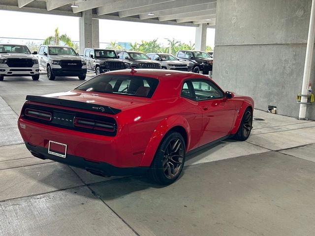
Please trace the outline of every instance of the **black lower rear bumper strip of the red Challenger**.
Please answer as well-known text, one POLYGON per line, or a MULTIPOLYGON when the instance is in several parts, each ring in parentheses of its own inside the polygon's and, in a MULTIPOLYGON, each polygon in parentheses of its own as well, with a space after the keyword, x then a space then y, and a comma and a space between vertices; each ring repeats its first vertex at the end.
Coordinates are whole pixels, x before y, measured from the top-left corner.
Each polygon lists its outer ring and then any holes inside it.
POLYGON ((32 155, 40 159, 50 159, 66 165, 85 169, 92 174, 100 176, 127 176, 127 175, 143 175, 147 172, 148 167, 128 167, 119 168, 106 162, 92 162, 83 157, 67 154, 65 158, 55 156, 48 153, 47 148, 32 146, 25 142, 26 147, 31 151, 32 155))

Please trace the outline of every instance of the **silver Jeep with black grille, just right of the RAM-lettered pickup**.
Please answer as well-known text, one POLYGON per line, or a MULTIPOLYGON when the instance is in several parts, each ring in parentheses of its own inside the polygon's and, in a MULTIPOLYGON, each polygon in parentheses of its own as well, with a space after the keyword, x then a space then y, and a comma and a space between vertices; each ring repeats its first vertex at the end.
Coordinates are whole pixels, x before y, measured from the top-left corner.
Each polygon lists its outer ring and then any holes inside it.
POLYGON ((111 70, 129 68, 128 63, 119 59, 115 50, 85 48, 82 57, 87 60, 88 71, 95 72, 96 75, 111 70))

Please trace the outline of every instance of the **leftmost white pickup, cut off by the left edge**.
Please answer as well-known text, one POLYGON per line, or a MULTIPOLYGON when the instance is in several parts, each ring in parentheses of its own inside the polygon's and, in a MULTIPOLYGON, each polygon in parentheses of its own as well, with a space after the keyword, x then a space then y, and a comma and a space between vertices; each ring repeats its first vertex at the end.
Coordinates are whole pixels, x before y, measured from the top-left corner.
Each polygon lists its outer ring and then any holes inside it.
POLYGON ((4 76, 32 76, 33 80, 39 79, 38 60, 26 45, 0 44, 0 81, 4 76))

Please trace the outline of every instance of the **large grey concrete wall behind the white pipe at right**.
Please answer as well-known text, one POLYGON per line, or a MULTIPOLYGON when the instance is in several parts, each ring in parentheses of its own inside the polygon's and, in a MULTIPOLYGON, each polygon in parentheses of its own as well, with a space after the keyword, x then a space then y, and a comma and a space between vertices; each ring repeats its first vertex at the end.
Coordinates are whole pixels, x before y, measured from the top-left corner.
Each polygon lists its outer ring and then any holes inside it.
MULTIPOLYGON (((226 90, 252 96, 257 109, 273 105, 278 114, 298 117, 296 95, 302 89, 311 4, 218 1, 214 80, 226 90)), ((310 82, 314 93, 314 69, 310 82)), ((308 106, 307 118, 315 119, 314 106, 308 106)))

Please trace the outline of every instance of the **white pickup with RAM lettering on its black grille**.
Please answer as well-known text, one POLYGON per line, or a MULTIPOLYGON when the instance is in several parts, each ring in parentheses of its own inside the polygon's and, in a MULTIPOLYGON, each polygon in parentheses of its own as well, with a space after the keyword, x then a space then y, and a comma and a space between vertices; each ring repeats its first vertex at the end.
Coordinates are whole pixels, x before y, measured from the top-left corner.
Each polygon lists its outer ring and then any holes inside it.
POLYGON ((87 61, 82 59, 71 47, 41 45, 38 51, 39 69, 47 71, 49 80, 56 76, 78 76, 85 80, 87 61))

